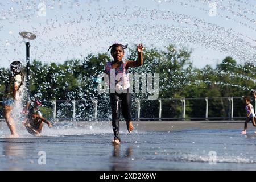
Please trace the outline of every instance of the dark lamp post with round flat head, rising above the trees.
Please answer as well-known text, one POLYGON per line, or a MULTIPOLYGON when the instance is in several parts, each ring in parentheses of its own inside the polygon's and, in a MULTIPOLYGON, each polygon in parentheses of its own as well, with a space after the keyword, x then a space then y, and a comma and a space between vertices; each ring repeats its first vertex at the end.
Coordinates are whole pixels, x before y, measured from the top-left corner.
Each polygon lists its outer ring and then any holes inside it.
MULTIPOLYGON (((25 39, 27 40, 34 40, 36 38, 36 35, 31 32, 19 32, 19 35, 22 36, 24 42, 25 39)), ((30 88, 30 42, 26 41, 26 61, 27 61, 27 88, 29 93, 30 88)))

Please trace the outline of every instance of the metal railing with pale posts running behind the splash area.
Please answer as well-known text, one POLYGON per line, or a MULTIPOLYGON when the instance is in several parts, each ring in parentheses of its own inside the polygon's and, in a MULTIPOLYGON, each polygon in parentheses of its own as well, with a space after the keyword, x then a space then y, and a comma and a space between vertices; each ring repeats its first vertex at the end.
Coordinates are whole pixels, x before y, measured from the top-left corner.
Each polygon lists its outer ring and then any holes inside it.
MULTIPOLYGON (((256 111, 256 100, 252 103, 256 111)), ((111 120, 108 100, 43 101, 44 117, 73 121, 111 120)), ((0 101, 0 119, 3 119, 0 101)), ((137 120, 245 119, 242 97, 165 98, 135 100, 131 116, 137 120)))

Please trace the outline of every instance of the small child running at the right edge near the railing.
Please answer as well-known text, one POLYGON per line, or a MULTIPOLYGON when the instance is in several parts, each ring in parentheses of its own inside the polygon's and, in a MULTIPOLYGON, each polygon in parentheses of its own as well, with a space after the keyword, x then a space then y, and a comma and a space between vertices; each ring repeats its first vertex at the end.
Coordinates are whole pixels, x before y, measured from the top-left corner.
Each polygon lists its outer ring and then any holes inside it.
POLYGON ((254 109, 253 109, 253 105, 251 105, 251 100, 249 96, 246 96, 244 98, 246 106, 245 106, 245 110, 246 110, 246 120, 245 120, 245 127, 244 130, 242 131, 242 134, 246 134, 246 129, 247 129, 247 123, 249 123, 250 121, 253 122, 253 126, 256 126, 255 124, 255 114, 254 114, 254 109))

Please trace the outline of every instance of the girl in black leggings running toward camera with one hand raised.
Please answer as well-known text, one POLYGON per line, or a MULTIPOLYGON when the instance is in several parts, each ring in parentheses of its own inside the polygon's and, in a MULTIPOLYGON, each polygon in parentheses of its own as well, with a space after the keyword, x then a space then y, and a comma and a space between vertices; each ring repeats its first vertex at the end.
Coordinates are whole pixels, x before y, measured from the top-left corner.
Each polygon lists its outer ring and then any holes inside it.
POLYGON ((114 140, 112 141, 113 144, 120 144, 121 141, 119 136, 120 109, 122 110, 123 118, 125 118, 128 132, 130 133, 133 131, 133 124, 131 122, 131 93, 129 93, 130 83, 128 68, 139 67, 143 64, 142 44, 137 46, 137 61, 123 61, 123 56, 125 54, 124 49, 126 49, 127 46, 128 45, 123 46, 122 44, 118 43, 110 46, 110 53, 114 61, 108 62, 105 65, 105 72, 109 76, 109 96, 112 109, 112 127, 114 131, 114 140), (112 76, 114 76, 113 78, 115 80, 110 79, 112 76), (114 90, 112 89, 113 87, 114 90))

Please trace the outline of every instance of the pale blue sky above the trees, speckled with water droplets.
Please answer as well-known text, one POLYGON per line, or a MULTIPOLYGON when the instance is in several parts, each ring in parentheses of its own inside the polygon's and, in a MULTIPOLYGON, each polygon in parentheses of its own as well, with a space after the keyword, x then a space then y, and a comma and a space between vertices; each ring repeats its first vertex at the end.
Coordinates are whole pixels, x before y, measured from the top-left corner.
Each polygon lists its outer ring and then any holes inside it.
POLYGON ((30 57, 43 63, 105 53, 118 42, 130 48, 174 44, 192 50, 197 68, 215 67, 226 56, 255 64, 255 0, 8 0, 0 8, 0 67, 26 63, 21 31, 36 34, 30 57))

